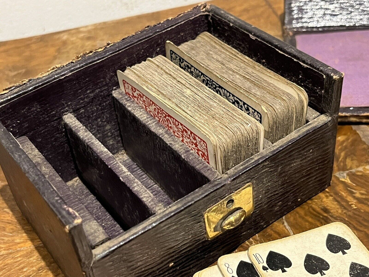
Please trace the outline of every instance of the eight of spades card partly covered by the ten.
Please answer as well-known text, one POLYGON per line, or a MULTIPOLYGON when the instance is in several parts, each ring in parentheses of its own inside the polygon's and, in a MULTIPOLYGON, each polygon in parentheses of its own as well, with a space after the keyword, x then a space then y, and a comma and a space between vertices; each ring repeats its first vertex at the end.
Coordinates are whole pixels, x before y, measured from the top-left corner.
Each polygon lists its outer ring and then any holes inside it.
POLYGON ((247 251, 221 256, 217 264, 224 277, 259 277, 247 251))

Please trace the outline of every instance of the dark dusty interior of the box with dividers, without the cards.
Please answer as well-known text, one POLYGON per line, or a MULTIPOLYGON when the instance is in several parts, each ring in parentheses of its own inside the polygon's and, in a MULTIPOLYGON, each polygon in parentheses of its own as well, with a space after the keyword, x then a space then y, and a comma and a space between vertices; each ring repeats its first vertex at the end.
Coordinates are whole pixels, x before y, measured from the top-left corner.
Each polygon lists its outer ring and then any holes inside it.
MULTIPOLYGON (((194 11, 165 32, 153 27, 150 34, 137 33, 134 40, 125 38, 84 57, 83 64, 59 70, 63 78, 36 79, 12 95, 12 101, 1 99, 7 106, 0 111, 1 122, 81 216, 92 248, 221 177, 118 89, 115 72, 165 55, 165 41, 180 45, 208 31, 302 86, 309 97, 307 122, 331 109, 324 100, 331 96, 323 94, 323 74, 266 44, 266 34, 255 39, 216 13, 194 11), (42 86, 45 81, 48 85, 42 86)), ((272 146, 264 144, 263 151, 272 146)))

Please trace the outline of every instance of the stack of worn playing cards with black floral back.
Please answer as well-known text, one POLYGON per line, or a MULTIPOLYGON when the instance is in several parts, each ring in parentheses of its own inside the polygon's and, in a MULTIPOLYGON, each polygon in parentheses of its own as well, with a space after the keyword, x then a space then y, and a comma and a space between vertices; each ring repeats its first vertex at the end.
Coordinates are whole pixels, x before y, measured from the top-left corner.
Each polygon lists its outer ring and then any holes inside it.
POLYGON ((305 124, 308 97, 304 89, 209 33, 179 47, 167 41, 166 57, 254 117, 272 143, 305 124))

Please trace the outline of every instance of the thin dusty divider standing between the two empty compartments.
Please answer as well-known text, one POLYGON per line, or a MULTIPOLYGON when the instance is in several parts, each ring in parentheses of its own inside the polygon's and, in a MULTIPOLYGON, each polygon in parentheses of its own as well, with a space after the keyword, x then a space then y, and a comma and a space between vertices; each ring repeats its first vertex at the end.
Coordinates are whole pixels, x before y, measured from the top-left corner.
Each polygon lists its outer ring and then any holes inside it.
POLYGON ((72 114, 63 116, 63 122, 81 179, 124 229, 164 209, 72 114))

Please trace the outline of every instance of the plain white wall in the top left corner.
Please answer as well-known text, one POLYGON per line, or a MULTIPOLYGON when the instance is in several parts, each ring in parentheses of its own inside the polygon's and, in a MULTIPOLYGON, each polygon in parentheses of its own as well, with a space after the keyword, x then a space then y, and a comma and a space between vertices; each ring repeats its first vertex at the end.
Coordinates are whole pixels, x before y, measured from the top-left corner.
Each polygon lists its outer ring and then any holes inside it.
POLYGON ((199 3, 199 0, 0 0, 0 41, 199 3))

